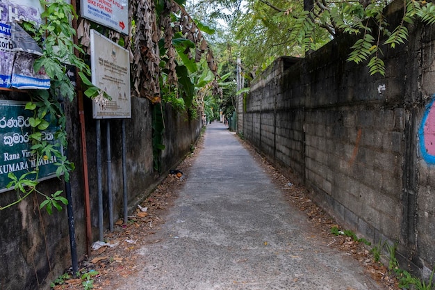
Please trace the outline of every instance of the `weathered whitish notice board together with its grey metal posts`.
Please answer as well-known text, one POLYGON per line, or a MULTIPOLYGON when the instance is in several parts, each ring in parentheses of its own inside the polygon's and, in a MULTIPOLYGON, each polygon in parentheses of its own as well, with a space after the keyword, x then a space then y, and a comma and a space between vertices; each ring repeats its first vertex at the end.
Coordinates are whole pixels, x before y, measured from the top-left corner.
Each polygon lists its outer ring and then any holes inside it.
MULTIPOLYGON (((104 90, 111 99, 97 97, 97 100, 92 103, 93 117, 97 119, 97 136, 101 134, 100 120, 101 119, 116 119, 116 118, 131 118, 131 96, 130 96, 130 54, 129 51, 120 47, 115 42, 104 37, 97 31, 90 31, 90 50, 91 50, 91 67, 92 67, 92 83, 104 90)), ((124 130, 124 120, 123 120, 124 130)), ((124 133, 124 132, 123 132, 124 133)), ((113 232, 113 196, 111 182, 111 155, 110 155, 110 122, 107 120, 106 127, 107 137, 107 175, 108 175, 108 207, 109 207, 109 225, 110 232, 113 232)), ((101 140, 97 137, 97 152, 101 150, 101 140)), ((125 138, 124 134, 123 137, 125 138)), ((122 140, 124 144, 124 139, 122 140)), ((123 146, 124 150, 124 146, 123 146)), ((124 159, 124 154, 122 155, 124 159)), ((101 184, 101 152, 97 154, 97 168, 99 185, 101 184)), ((125 170, 125 161, 122 162, 123 172, 125 170)), ((125 175, 125 173, 123 173, 125 175)), ((126 210, 126 177, 124 178, 124 220, 128 216, 126 210)), ((99 187, 99 222, 100 225, 100 240, 103 239, 103 205, 102 205, 102 189, 99 187), (101 195, 101 196, 100 196, 101 195)))

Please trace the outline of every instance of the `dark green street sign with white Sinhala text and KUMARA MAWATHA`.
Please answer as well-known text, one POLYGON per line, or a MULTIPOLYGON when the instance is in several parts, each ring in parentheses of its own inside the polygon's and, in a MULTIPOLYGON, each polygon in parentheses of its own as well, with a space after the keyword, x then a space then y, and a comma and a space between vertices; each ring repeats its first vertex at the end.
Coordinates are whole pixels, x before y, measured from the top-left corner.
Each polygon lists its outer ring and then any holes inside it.
MULTIPOLYGON (((32 112, 25 109, 25 102, 0 101, 0 193, 8 191, 9 172, 18 178, 36 168, 36 158, 31 153, 31 126, 29 119, 32 112)), ((42 140, 54 144, 54 133, 58 127, 50 125, 42 132, 42 140)), ((56 156, 42 156, 39 163, 39 180, 56 177, 56 156)), ((31 179, 34 176, 28 175, 31 179)))

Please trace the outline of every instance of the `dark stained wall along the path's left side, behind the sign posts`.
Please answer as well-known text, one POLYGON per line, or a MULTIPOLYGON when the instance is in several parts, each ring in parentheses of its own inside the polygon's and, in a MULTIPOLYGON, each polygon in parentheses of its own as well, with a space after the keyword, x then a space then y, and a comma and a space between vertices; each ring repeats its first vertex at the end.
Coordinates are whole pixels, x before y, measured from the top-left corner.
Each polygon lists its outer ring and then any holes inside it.
MULTIPOLYGON (((26 95, 17 92, 0 92, 1 99, 26 100, 26 95)), ((188 115, 165 107, 166 129, 163 136, 165 150, 162 152, 161 175, 153 170, 151 104, 147 99, 132 97, 132 118, 125 121, 127 191, 130 213, 136 204, 145 199, 167 170, 178 165, 195 143, 202 128, 200 118, 192 120, 188 115)), ((75 103, 66 104, 69 147, 67 154, 75 163, 72 172, 72 207, 76 245, 79 259, 87 253, 85 209, 83 197, 83 162, 81 158, 81 134, 79 113, 75 103)), ((106 120, 101 120, 102 184, 104 204, 104 230, 108 230, 108 189, 106 162, 106 120)), ((92 119, 92 103, 85 99, 85 126, 90 187, 91 242, 99 239, 96 121, 92 119)), ((110 120, 111 181, 113 192, 113 219, 123 216, 122 181, 122 121, 110 120)), ((42 192, 54 193, 64 189, 57 178, 42 182, 42 192)), ((8 204, 16 193, 0 193, 0 205, 8 204)), ((40 196, 31 195, 18 205, 0 211, 0 289, 49 289, 49 284, 71 266, 67 211, 49 216, 39 210, 40 196)))

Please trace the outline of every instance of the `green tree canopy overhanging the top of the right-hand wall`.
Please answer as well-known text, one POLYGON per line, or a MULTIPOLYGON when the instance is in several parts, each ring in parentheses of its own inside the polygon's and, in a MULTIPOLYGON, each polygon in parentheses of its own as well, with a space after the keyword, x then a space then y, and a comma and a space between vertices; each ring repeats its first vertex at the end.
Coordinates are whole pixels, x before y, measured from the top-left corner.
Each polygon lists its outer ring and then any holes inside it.
POLYGON ((217 40, 242 58, 245 73, 263 70, 279 56, 304 56, 333 38, 352 34, 357 40, 348 61, 367 61, 371 74, 384 74, 382 47, 406 42, 407 24, 435 22, 432 2, 403 1, 398 24, 388 23, 384 15, 390 0, 199 0, 191 13, 208 23, 226 22, 217 40))

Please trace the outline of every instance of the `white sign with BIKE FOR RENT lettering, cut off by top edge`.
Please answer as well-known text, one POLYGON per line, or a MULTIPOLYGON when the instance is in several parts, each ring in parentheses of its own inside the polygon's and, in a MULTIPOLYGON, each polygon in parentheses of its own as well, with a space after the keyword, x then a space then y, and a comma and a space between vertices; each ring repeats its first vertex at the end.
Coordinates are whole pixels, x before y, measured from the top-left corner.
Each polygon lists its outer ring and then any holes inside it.
POLYGON ((129 0, 81 0, 81 17, 129 34, 129 0))

